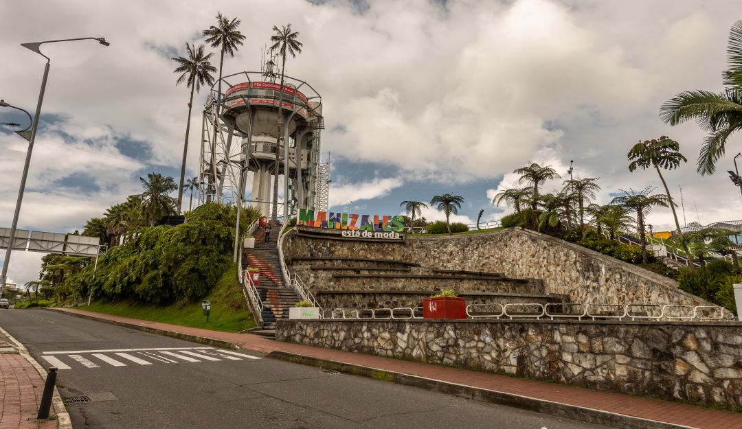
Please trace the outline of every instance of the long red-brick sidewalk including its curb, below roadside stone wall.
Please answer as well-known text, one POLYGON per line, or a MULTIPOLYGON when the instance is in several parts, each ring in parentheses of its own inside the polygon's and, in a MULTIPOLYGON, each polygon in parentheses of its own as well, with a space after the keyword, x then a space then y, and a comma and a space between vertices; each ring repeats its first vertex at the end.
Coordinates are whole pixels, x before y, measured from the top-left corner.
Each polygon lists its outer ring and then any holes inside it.
MULTIPOLYGON (((742 414, 731 411, 277 342, 255 335, 168 325, 71 308, 53 310, 220 347, 241 347, 269 353, 277 359, 344 370, 616 428, 742 429, 742 414)), ((0 425, 0 429, 2 428, 4 426, 0 425)))

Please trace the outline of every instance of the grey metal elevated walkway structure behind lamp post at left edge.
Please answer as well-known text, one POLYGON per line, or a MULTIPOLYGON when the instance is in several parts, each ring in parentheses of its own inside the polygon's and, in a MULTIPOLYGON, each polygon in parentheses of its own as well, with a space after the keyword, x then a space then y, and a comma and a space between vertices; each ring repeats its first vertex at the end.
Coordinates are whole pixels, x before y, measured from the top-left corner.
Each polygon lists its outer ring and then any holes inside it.
MULTIPOLYGON (((0 228, 0 248, 7 248, 9 243, 10 228, 0 228)), ((31 230, 16 230, 16 237, 13 239, 13 250, 25 250, 27 252, 98 256, 99 253, 105 253, 106 247, 106 245, 100 244, 98 237, 31 230)))

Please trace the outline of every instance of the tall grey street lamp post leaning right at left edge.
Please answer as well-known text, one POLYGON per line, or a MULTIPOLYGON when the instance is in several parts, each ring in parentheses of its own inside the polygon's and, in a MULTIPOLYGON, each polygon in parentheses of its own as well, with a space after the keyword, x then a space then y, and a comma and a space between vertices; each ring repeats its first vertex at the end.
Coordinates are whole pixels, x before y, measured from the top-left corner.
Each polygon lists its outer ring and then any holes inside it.
MULTIPOLYGON (((30 136, 24 136, 24 134, 20 134, 24 139, 28 140, 28 150, 26 151, 26 162, 23 166, 23 174, 21 176, 21 187, 18 191, 18 199, 16 200, 16 210, 13 212, 13 225, 10 226, 10 239, 8 240, 7 248, 5 249, 5 259, 2 265, 2 274, 0 275, 0 296, 2 296, 2 289, 5 285, 5 281, 7 279, 7 265, 10 262, 10 251, 13 249, 13 242, 16 239, 16 227, 18 227, 18 215, 21 211, 21 203, 23 201, 23 191, 26 187, 26 178, 28 176, 28 167, 31 162, 31 152, 33 152, 33 142, 36 140, 36 130, 39 127, 39 116, 42 112, 42 102, 44 101, 44 93, 46 90, 46 83, 47 78, 49 76, 49 65, 51 59, 48 56, 45 56, 42 51, 40 50, 41 45, 45 43, 57 43, 60 41, 78 41, 78 40, 96 40, 99 44, 102 44, 103 46, 108 46, 110 43, 108 41, 105 41, 105 38, 102 37, 79 37, 76 39, 59 39, 59 40, 46 40, 46 41, 35 41, 33 43, 22 43, 21 46, 25 47, 26 49, 33 50, 33 52, 38 53, 40 56, 43 56, 45 59, 47 59, 47 62, 44 67, 44 77, 42 78, 42 88, 39 91, 39 101, 36 102, 36 116, 33 117, 33 121, 31 123, 31 133, 30 136)), ((4 103, 7 104, 7 103, 4 103)), ((7 104, 5 106, 4 104, 0 104, 4 107, 10 107, 10 104, 7 104)), ((25 110, 24 110, 25 111, 25 110)), ((27 112, 26 112, 27 113, 27 112)), ((24 130, 25 132, 26 130, 24 130)))

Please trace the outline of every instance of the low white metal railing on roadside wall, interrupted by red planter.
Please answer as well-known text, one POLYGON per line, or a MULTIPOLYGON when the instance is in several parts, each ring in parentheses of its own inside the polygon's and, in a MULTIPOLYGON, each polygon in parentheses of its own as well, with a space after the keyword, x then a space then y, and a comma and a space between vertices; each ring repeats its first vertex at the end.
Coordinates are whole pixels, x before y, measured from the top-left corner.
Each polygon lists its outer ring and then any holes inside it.
MULTIPOLYGON (((423 307, 332 308, 321 310, 327 320, 422 319, 423 307)), ((631 322, 735 322, 734 314, 715 305, 655 305, 578 302, 510 302, 470 304, 467 319, 577 319, 631 322)))

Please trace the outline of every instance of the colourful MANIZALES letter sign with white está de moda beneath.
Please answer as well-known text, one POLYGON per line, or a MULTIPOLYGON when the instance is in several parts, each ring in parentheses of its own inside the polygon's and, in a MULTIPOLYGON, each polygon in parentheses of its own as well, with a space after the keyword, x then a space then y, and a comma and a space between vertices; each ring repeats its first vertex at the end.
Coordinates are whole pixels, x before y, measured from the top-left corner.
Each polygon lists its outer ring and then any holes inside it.
POLYGON ((358 216, 354 213, 333 213, 299 209, 297 225, 342 230, 344 237, 361 239, 402 239, 404 216, 358 216))

